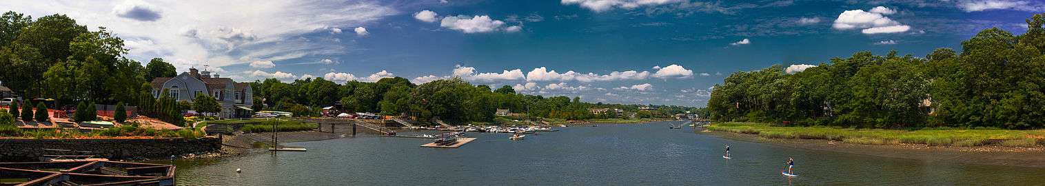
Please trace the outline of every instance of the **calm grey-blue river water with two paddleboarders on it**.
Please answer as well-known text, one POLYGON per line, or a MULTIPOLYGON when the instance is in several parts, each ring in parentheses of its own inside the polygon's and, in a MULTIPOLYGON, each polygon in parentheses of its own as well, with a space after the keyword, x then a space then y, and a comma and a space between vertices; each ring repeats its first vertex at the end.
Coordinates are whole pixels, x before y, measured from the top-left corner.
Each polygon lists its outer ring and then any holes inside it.
POLYGON ((180 185, 1036 185, 1045 169, 806 150, 669 130, 669 122, 563 127, 460 148, 426 139, 356 137, 288 143, 307 153, 176 162, 180 185), (733 160, 722 156, 733 146, 733 160), (780 175, 787 157, 795 173, 780 175), (236 173, 235 169, 242 169, 236 173))

